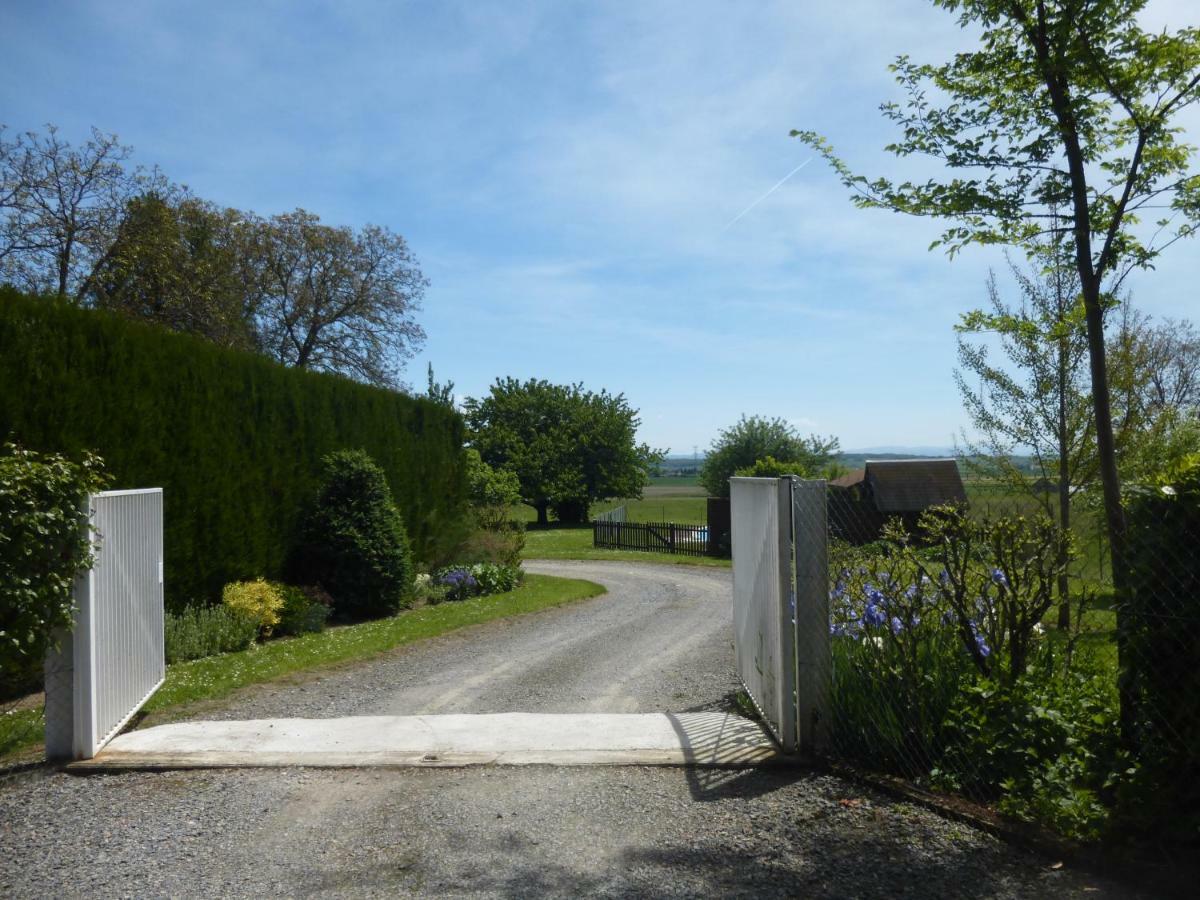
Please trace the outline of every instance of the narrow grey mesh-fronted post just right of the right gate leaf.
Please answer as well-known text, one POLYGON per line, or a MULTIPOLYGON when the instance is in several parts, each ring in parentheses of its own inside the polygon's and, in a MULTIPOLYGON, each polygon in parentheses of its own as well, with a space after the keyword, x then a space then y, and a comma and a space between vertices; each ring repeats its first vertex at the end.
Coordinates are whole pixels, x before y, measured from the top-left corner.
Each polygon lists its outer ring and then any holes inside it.
POLYGON ((792 478, 796 553, 796 725, 798 749, 814 755, 829 740, 829 528, 826 482, 792 478))

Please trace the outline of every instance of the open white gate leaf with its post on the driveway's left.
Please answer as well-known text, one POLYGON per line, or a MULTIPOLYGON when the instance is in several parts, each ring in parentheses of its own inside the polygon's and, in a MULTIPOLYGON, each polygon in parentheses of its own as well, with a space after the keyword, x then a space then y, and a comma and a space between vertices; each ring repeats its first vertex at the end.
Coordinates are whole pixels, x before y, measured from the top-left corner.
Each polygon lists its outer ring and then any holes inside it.
POLYGON ((166 676, 162 490, 89 497, 98 542, 74 629, 46 664, 46 752, 90 760, 166 676))

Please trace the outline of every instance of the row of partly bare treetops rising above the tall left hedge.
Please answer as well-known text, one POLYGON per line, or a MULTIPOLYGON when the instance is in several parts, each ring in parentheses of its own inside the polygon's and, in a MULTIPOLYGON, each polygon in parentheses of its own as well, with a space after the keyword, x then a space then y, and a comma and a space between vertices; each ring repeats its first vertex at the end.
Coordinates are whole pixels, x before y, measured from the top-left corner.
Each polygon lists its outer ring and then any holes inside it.
POLYGON ((132 152, 96 130, 77 146, 0 127, 0 282, 401 386, 428 287, 401 235, 221 209, 132 152))

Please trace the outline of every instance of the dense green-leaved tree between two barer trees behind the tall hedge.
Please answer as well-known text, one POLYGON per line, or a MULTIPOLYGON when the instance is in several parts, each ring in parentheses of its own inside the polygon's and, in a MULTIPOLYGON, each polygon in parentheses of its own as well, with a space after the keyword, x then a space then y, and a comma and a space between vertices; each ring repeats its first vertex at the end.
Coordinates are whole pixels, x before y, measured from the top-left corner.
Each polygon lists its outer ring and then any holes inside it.
POLYGON ((254 349, 247 228, 242 214, 196 198, 136 197, 89 278, 86 299, 224 347, 254 349))

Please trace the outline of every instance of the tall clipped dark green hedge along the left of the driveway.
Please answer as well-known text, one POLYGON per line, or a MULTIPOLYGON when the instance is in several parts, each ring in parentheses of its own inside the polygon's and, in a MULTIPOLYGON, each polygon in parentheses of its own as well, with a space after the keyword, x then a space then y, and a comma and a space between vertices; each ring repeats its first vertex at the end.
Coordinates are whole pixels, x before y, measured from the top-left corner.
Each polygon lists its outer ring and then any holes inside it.
POLYGON ((466 503, 463 425, 445 407, 5 287, 0 439, 94 450, 114 488, 164 488, 174 610, 281 577, 334 450, 379 463, 420 559, 440 558, 466 503))

